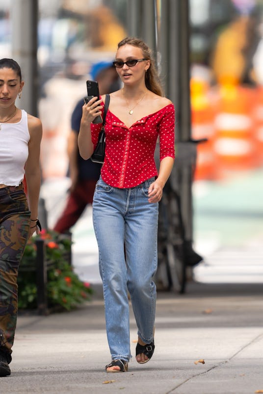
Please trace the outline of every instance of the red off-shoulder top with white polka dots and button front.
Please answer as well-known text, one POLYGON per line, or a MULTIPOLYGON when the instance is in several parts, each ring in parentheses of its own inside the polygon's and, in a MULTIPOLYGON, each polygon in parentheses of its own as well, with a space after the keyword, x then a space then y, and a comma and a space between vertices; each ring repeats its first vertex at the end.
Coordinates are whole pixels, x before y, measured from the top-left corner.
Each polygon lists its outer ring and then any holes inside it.
MULTIPOLYGON (((91 124, 94 147, 100 130, 101 124, 91 124)), ((105 161, 101 170, 104 182, 117 188, 131 188, 158 175, 154 160, 157 137, 160 160, 167 156, 174 159, 174 130, 173 104, 139 119, 130 128, 108 110, 105 120, 105 161)))

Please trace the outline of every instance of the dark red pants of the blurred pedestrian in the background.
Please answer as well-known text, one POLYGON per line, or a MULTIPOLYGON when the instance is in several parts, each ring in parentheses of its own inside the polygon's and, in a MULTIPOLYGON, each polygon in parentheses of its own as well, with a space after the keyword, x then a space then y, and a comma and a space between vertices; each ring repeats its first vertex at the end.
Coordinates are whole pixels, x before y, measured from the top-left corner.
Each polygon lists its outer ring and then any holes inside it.
POLYGON ((67 205, 57 220, 54 230, 59 233, 67 232, 79 219, 87 204, 92 204, 93 194, 97 180, 83 180, 77 183, 76 188, 67 200, 67 205))

